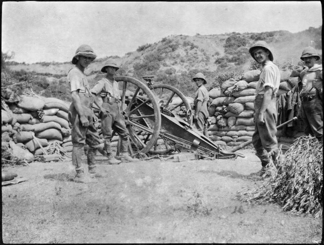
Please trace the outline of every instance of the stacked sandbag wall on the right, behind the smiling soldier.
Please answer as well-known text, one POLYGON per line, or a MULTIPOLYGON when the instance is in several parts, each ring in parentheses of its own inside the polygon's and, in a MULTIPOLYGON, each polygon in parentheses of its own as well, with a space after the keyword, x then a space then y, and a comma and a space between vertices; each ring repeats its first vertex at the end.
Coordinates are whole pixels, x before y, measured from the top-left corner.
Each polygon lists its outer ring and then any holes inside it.
MULTIPOLYGON (((243 74, 239 80, 229 79, 220 87, 209 91, 211 99, 209 112, 208 134, 212 141, 219 145, 237 146, 252 140, 255 129, 254 99, 260 70, 251 70, 243 74)), ((295 73, 296 74, 296 73, 295 73)), ((280 95, 288 93, 300 79, 292 77, 291 71, 281 71, 280 95)), ((301 132, 296 131, 293 137, 286 137, 284 133, 278 135, 278 141, 293 142, 301 132)))

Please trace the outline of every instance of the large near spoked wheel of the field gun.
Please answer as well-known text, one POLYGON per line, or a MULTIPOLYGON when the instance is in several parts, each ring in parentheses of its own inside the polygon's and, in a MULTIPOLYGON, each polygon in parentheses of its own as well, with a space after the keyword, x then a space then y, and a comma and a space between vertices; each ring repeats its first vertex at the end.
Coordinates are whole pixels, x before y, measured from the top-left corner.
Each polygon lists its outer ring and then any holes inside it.
MULTIPOLYGON (((121 108, 130 137, 130 153, 147 153, 158 140, 161 129, 160 106, 143 82, 126 76, 115 77, 122 87, 121 108)), ((119 149, 118 149, 119 150, 119 149)))

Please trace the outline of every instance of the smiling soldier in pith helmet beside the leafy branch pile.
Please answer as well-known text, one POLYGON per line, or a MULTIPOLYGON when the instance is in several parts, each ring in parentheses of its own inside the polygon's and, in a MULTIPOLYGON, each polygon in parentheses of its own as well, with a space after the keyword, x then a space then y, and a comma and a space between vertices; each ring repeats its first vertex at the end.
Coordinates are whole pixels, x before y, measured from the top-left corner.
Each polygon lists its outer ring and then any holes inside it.
POLYGON ((280 71, 278 66, 272 62, 273 53, 265 41, 257 41, 249 52, 252 58, 262 65, 255 91, 255 130, 252 143, 256 155, 261 160, 262 169, 259 174, 263 176, 270 163, 269 156, 275 162, 278 154, 276 93, 279 90, 280 71))

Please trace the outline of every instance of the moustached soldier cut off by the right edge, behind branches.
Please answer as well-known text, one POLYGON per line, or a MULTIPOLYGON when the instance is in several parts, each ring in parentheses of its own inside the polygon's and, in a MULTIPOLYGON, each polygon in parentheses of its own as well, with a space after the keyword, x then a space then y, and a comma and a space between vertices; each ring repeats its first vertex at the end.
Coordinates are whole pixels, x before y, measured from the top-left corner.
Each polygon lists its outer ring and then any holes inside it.
POLYGON ((304 133, 315 136, 323 143, 323 66, 316 64, 320 56, 312 47, 303 50, 301 60, 307 66, 300 77, 301 116, 304 133))

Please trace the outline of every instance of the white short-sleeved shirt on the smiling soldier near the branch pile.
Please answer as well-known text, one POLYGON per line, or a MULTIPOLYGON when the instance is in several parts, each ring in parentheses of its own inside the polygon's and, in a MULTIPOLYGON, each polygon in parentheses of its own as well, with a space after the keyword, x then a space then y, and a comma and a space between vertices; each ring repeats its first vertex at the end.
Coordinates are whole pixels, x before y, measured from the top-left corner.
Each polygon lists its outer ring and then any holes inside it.
POLYGON ((272 88, 274 96, 276 96, 280 85, 280 71, 277 65, 272 61, 266 61, 260 74, 255 94, 264 94, 265 87, 269 86, 272 88))

